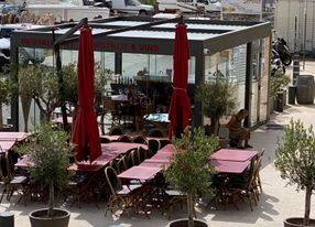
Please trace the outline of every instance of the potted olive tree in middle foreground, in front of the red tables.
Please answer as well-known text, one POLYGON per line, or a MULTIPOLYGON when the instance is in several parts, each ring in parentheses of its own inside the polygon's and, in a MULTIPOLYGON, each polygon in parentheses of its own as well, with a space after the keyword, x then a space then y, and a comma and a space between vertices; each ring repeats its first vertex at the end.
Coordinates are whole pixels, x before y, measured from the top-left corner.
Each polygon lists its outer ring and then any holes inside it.
POLYGON ((204 221, 194 219, 195 201, 210 193, 209 179, 213 169, 208 161, 218 147, 218 139, 205 136, 202 128, 195 128, 189 134, 175 139, 174 144, 176 152, 164 174, 176 190, 187 195, 188 218, 174 220, 169 226, 207 226, 204 221))

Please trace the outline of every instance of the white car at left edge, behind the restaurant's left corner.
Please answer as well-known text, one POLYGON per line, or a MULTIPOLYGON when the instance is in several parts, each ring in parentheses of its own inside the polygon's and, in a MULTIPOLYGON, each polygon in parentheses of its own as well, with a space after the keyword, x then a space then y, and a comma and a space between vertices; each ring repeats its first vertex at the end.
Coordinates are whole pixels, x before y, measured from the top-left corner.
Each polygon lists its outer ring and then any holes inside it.
MULTIPOLYGON (((15 30, 35 29, 43 25, 35 24, 2 24, 0 25, 0 67, 10 63, 10 39, 15 30)), ((22 47, 19 50, 19 64, 26 65, 31 61, 33 64, 43 63, 45 61, 46 51, 39 48, 22 47)))

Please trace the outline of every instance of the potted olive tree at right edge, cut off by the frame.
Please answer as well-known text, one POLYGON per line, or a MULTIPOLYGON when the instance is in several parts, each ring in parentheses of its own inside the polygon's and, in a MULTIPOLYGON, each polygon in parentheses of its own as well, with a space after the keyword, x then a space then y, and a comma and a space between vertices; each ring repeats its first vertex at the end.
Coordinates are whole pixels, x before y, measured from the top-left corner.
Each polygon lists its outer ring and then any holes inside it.
POLYGON ((283 143, 275 150, 275 167, 281 177, 295 184, 297 191, 305 190, 304 218, 287 218, 284 227, 314 226, 309 219, 311 197, 315 190, 315 133, 313 126, 305 128, 300 120, 291 120, 284 131, 283 143))

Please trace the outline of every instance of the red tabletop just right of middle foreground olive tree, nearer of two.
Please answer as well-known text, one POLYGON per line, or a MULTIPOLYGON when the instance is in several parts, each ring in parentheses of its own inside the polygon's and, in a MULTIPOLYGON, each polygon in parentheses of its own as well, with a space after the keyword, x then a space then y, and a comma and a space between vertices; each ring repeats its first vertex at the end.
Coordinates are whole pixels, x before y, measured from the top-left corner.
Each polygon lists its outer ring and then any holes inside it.
POLYGON ((250 165, 250 161, 232 162, 224 160, 211 160, 211 165, 219 173, 242 173, 247 166, 250 165))

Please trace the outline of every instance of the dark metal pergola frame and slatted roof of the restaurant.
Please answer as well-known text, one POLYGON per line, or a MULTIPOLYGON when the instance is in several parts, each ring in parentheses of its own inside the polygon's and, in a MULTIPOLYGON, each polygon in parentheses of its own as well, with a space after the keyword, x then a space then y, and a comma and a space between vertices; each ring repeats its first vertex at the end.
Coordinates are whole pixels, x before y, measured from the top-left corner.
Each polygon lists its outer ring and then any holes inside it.
MULTIPOLYGON (((138 54, 159 54, 173 55, 174 36, 170 39, 156 37, 134 37, 123 35, 128 31, 153 31, 153 32, 174 32, 175 26, 163 26, 170 23, 177 23, 184 20, 186 24, 199 25, 217 25, 217 29, 194 29, 187 28, 188 33, 195 34, 215 34, 213 37, 204 40, 188 40, 191 56, 195 57, 195 85, 199 85, 205 80, 205 56, 210 55, 227 48, 231 48, 241 44, 247 44, 247 48, 251 50, 251 43, 256 40, 271 36, 271 24, 269 22, 246 22, 246 21, 211 21, 200 19, 155 19, 151 17, 113 17, 108 19, 100 19, 89 21, 89 26, 93 29, 101 29, 104 32, 94 34, 95 51, 98 52, 115 52, 115 73, 121 74, 121 55, 122 53, 138 53, 138 54), (127 21, 135 25, 117 25, 115 22, 127 21), (160 26, 159 26, 160 25, 160 26), (233 29, 235 28, 235 29, 233 29), (119 34, 119 35, 117 35, 119 34), (153 46, 152 48, 133 48, 132 46, 153 46), (205 52, 206 51, 206 52, 205 52)), ((18 62, 18 48, 35 47, 35 48, 54 48, 54 41, 52 39, 52 30, 58 31, 62 29, 72 29, 79 22, 67 24, 58 24, 34 30, 23 30, 13 32, 11 37, 11 61, 18 62)), ((55 39, 58 40, 63 34, 55 33, 55 39)), ((270 39, 271 41, 271 39, 270 39)), ((78 35, 70 34, 66 41, 59 44, 61 50, 78 50, 78 35)), ((247 94, 246 108, 249 107, 250 99, 250 75, 251 75, 251 53, 247 52, 247 94)), ((203 105, 195 104, 194 108, 194 123, 203 123, 203 105)), ((12 105, 11 119, 12 123, 18 130, 19 126, 18 106, 12 105)))

